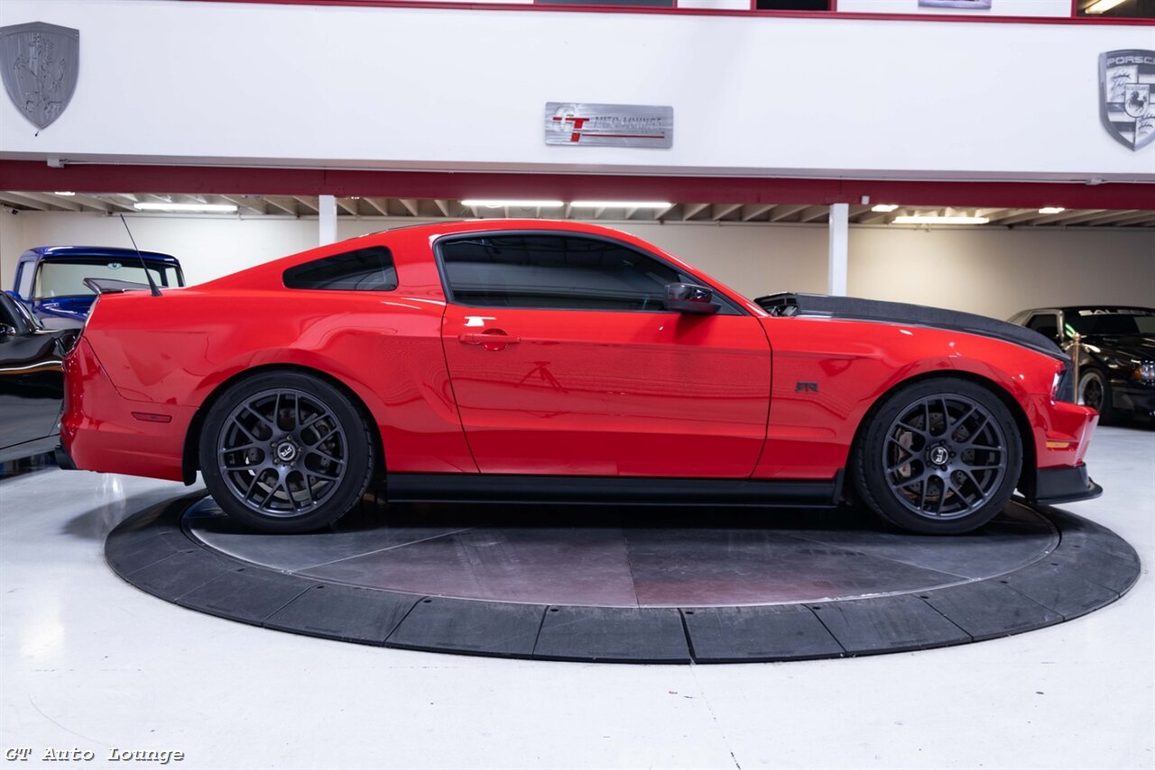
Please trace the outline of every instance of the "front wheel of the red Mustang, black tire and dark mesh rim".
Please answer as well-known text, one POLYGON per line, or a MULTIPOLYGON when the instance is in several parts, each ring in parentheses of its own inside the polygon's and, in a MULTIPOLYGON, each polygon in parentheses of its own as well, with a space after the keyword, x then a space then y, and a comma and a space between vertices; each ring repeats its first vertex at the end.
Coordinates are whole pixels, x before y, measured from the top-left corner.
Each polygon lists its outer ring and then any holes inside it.
POLYGON ((1022 470, 1022 439, 1007 406, 959 377, 891 394, 851 451, 855 489, 904 530, 957 534, 993 518, 1022 470))

